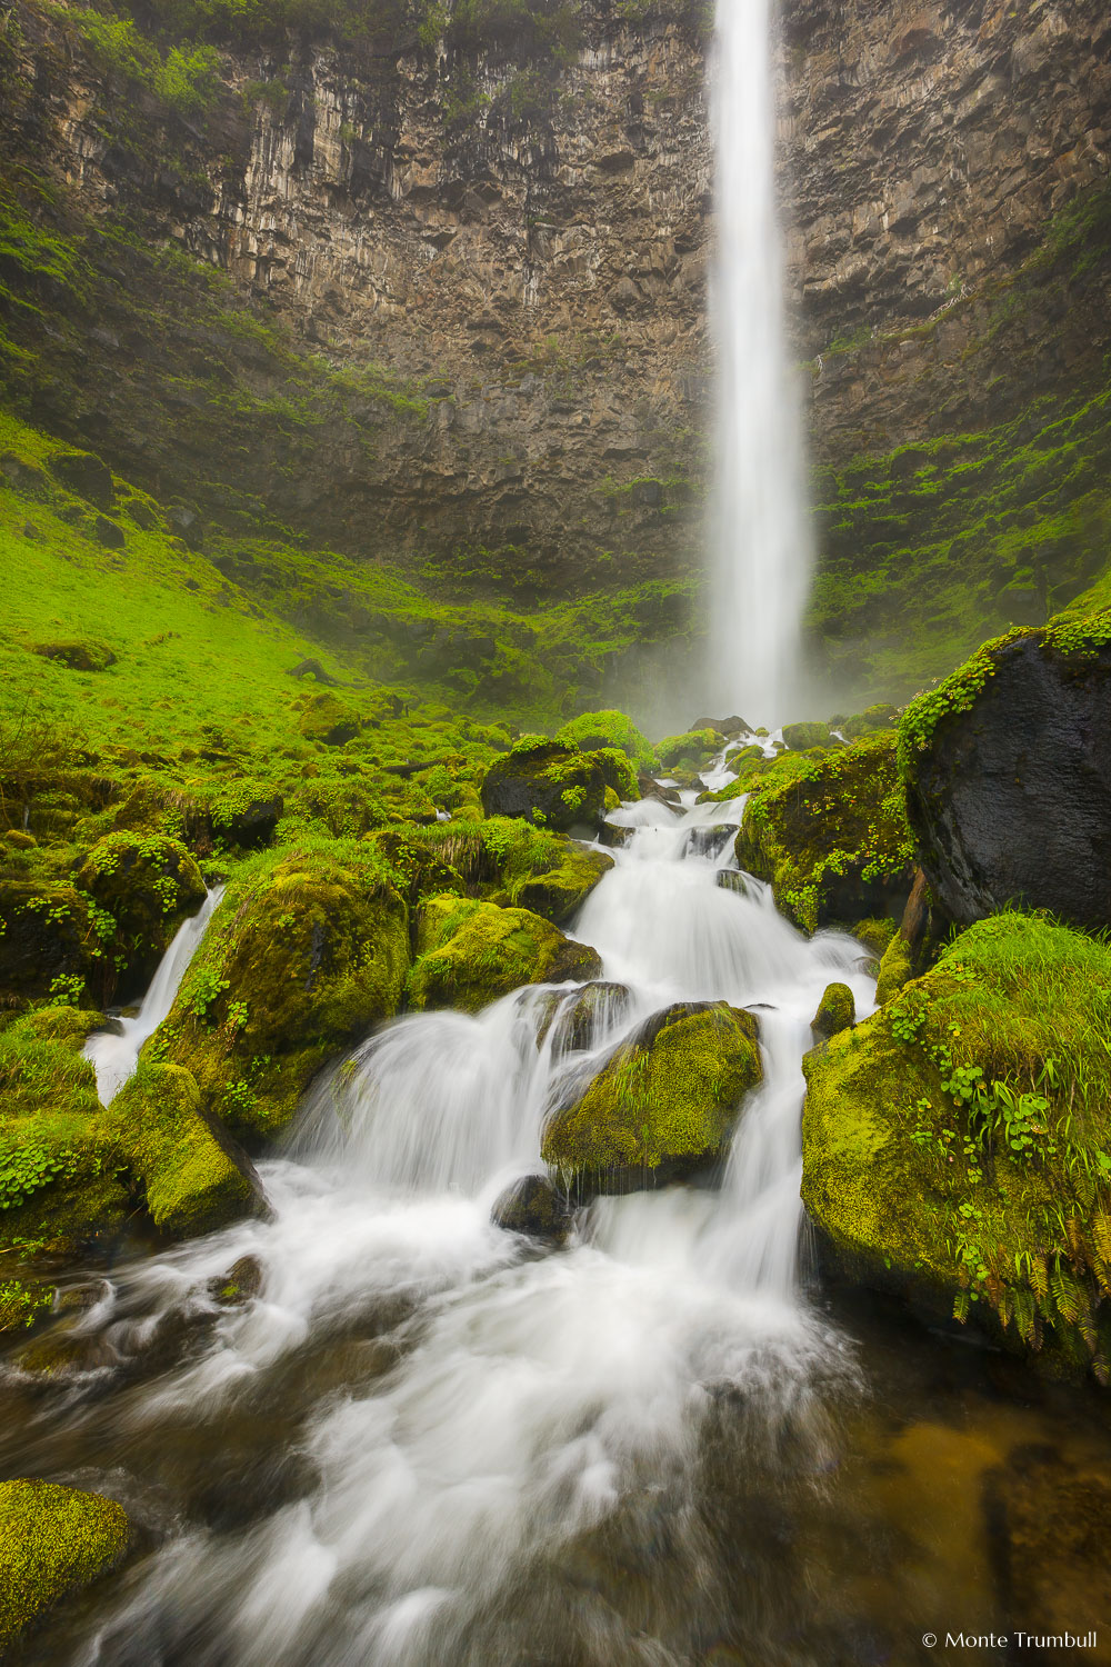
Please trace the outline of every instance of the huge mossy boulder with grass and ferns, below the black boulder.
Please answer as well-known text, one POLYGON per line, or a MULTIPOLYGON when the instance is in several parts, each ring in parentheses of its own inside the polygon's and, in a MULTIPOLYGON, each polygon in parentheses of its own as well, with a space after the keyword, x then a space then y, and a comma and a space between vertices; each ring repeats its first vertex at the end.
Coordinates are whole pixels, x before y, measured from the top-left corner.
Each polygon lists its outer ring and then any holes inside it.
POLYGON ((805 1070, 830 1265, 1106 1377, 1111 949, 993 915, 805 1070))

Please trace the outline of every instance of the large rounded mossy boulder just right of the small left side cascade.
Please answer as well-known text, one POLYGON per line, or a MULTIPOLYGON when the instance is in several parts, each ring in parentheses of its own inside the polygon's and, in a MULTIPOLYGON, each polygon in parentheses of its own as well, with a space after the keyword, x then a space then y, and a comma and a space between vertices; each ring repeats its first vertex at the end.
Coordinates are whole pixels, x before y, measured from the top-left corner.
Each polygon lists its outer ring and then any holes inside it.
POLYGON ((278 847, 230 882, 143 1057, 190 1070, 203 1110, 257 1144, 313 1072, 396 1012, 408 964, 408 909, 373 845, 278 847))

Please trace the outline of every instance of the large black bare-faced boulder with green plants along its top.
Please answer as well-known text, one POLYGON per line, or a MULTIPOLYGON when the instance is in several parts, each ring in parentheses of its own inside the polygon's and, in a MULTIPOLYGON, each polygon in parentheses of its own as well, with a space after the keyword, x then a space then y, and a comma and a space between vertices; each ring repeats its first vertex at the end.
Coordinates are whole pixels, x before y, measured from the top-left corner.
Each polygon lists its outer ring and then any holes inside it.
POLYGON ((1111 610, 984 643, 899 722, 906 803, 951 920, 1111 925, 1111 610))

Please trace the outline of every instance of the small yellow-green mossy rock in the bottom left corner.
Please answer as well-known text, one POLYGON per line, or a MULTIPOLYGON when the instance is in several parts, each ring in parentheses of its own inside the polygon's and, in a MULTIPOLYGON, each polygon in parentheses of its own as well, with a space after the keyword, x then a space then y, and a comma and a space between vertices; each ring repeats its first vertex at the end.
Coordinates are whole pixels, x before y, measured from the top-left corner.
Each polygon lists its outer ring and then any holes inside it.
POLYGON ((0 1649, 125 1555, 123 1505, 57 1482, 0 1482, 0 1649))

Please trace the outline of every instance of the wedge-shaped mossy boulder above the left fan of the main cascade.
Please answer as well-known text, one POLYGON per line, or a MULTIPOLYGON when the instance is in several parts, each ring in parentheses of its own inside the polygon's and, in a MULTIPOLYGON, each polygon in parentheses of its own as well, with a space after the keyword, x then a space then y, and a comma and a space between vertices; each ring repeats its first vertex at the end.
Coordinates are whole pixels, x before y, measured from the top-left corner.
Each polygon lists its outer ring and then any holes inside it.
POLYGON ((528 909, 431 897, 421 909, 410 1004, 476 1014, 525 984, 596 979, 598 954, 528 909))

